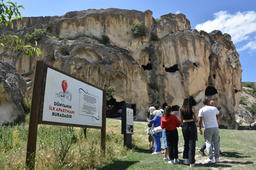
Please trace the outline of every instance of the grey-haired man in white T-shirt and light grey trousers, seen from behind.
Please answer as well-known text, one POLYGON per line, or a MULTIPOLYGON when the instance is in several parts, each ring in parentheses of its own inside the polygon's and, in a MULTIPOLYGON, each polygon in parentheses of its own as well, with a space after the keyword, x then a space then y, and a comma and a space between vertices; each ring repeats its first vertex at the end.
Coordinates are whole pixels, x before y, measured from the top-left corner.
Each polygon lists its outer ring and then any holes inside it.
POLYGON ((202 122, 204 123, 204 140, 206 143, 208 160, 204 160, 206 163, 219 162, 220 143, 219 143, 219 125, 216 121, 216 115, 219 116, 220 112, 216 107, 210 106, 208 98, 203 98, 202 102, 205 107, 199 110, 199 131, 203 135, 202 122), (211 148, 211 141, 214 144, 215 158, 213 159, 213 153, 211 148))

